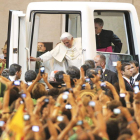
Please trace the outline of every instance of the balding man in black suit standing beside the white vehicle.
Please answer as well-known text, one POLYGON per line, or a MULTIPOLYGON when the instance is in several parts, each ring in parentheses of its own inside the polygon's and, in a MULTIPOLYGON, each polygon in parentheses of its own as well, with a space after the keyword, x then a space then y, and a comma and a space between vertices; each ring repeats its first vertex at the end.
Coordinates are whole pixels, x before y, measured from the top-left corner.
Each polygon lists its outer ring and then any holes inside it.
POLYGON ((106 57, 103 54, 96 55, 94 58, 95 67, 100 66, 103 70, 103 80, 108 81, 111 84, 118 82, 117 74, 111 70, 105 68, 106 65, 106 57))

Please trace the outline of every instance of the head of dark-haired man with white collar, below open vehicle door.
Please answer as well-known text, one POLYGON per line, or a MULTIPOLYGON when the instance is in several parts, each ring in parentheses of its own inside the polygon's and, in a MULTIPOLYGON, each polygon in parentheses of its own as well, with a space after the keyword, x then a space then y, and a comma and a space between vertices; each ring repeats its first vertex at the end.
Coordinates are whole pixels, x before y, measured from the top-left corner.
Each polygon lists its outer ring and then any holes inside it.
POLYGON ((21 70, 21 66, 20 65, 12 64, 10 66, 10 68, 9 68, 9 75, 10 76, 15 76, 16 75, 16 79, 15 80, 20 79, 21 74, 22 74, 22 70, 21 70))

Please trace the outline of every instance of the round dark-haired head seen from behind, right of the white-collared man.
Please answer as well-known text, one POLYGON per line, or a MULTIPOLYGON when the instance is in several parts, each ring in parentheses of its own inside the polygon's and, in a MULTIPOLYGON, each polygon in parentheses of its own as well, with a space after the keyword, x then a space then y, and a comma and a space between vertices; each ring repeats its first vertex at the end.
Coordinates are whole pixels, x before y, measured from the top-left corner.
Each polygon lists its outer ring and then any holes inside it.
POLYGON ((25 72, 25 81, 26 82, 32 82, 33 80, 36 79, 36 72, 34 70, 27 70, 25 72))

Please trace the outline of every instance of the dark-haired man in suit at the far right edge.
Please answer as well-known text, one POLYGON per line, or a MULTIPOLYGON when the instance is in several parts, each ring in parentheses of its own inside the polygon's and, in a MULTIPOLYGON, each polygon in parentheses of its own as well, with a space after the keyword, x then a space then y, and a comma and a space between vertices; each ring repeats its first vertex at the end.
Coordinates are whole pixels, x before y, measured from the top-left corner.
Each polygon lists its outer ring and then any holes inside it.
POLYGON ((139 63, 135 60, 132 60, 129 62, 131 64, 131 70, 132 70, 132 81, 133 84, 135 81, 139 81, 140 80, 140 73, 139 73, 139 63))

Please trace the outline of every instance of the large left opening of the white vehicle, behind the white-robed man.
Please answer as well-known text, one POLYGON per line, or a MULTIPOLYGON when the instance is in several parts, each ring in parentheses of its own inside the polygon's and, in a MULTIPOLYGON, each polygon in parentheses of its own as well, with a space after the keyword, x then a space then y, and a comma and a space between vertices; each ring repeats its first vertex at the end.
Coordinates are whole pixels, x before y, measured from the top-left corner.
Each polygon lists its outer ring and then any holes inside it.
MULTIPOLYGON (((81 21, 79 12, 39 12, 34 16, 32 24, 32 38, 31 38, 31 56, 39 57, 47 51, 51 51, 60 43, 60 36, 64 32, 69 32, 74 38, 81 37, 81 21)), ((55 59, 45 62, 46 72, 56 70, 54 66, 55 59)), ((58 62, 57 62, 58 63, 58 62)), ((31 69, 38 72, 41 63, 37 62, 32 65, 31 69)), ((62 64, 57 65, 57 70, 62 69, 62 64), (58 67, 60 66, 60 68, 58 67)))

